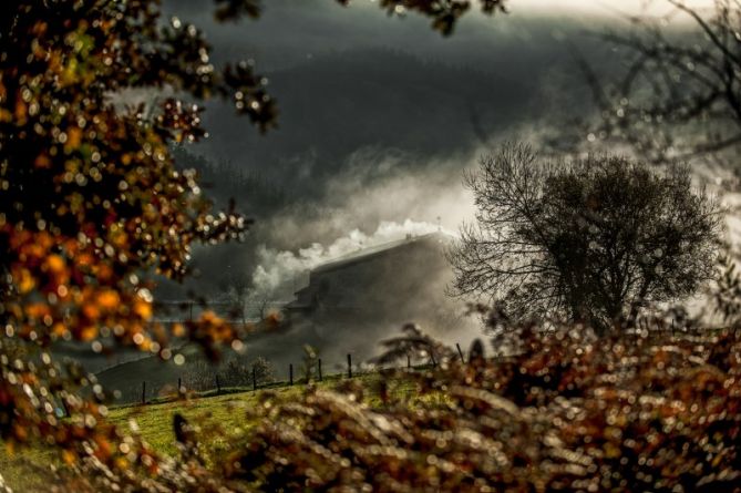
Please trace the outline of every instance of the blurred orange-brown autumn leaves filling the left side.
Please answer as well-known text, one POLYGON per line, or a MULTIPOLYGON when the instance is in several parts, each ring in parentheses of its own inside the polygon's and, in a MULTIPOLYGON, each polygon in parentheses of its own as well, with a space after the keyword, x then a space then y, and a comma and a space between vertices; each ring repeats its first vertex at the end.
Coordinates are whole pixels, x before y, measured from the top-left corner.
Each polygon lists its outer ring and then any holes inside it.
POLYGON ((142 278, 182 278, 192 243, 238 238, 247 223, 214 212, 195 173, 173 165, 169 143, 204 135, 200 109, 166 97, 145 112, 125 104, 126 92, 233 95, 264 130, 272 102, 248 64, 218 73, 203 34, 176 19, 163 25, 156 2, 3 9, 0 438, 10 449, 56 446, 68 464, 85 458, 109 474, 125 471, 116 482, 140 484, 158 473, 155 454, 109 424, 101 386, 50 349, 78 340, 101 352, 113 341, 168 359, 173 333, 210 353, 238 338, 214 314, 187 327, 156 322, 142 278), (12 356, 18 348, 22 357, 12 356))

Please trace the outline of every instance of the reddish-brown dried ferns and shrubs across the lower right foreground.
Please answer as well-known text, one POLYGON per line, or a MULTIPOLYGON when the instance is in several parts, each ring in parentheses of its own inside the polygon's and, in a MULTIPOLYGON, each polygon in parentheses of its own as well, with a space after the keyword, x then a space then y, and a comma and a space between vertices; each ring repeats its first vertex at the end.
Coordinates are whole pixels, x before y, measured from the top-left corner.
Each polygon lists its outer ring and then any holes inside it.
POLYGON ((359 388, 266 394, 215 472, 260 491, 741 491, 735 333, 511 335, 514 356, 447 352, 409 374, 438 397, 426 404, 383 389, 375 407, 359 388))

